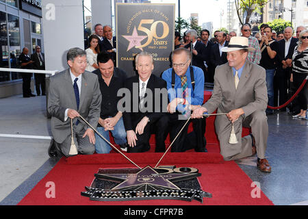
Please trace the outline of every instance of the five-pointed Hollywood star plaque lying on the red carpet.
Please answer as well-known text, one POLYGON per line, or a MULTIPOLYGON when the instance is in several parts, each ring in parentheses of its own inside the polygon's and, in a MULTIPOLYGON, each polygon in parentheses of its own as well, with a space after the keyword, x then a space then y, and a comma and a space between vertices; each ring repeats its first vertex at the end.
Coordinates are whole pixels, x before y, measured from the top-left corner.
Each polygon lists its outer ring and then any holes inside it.
POLYGON ((198 173, 168 173, 159 174, 151 166, 146 166, 135 174, 97 174, 96 176, 103 179, 114 179, 123 181, 116 185, 112 190, 121 190, 136 185, 151 185, 168 188, 172 190, 180 190, 177 185, 171 181, 179 181, 179 179, 188 179, 197 177, 198 173))

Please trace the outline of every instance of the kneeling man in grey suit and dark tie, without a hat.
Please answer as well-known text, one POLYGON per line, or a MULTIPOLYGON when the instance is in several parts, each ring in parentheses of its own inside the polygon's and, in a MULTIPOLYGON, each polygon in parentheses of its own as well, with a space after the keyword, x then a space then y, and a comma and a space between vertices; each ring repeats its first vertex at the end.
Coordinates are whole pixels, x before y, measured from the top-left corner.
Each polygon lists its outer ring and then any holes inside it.
POLYGON ((48 112, 51 117, 51 132, 55 144, 49 147, 49 156, 62 153, 70 156, 71 127, 73 119, 73 138, 81 154, 94 153, 94 131, 81 120, 85 118, 96 128, 101 111, 101 92, 97 75, 86 69, 86 52, 79 48, 67 53, 70 68, 50 78, 48 112))

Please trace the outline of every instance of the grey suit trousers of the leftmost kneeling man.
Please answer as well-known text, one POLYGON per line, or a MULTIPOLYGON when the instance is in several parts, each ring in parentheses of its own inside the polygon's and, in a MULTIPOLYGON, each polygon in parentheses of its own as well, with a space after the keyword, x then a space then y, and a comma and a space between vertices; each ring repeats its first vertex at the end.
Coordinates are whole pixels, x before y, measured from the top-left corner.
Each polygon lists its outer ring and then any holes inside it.
MULTIPOLYGON (((79 125, 77 125, 77 128, 80 128, 80 127, 82 127, 82 125, 79 123, 79 125)), ((82 136, 84 136, 84 131, 77 131, 75 129, 75 126, 74 126, 74 128, 73 128, 73 138, 74 138, 75 145, 77 146, 78 153, 80 153, 82 155, 92 155, 95 151, 94 144, 90 143, 88 136, 86 136, 84 138, 82 138, 82 136)), ((66 157, 71 156, 71 155, 68 154, 70 152, 71 141, 72 141, 72 138, 71 138, 71 135, 69 135, 64 140, 64 142, 58 143, 61 152, 66 157)))

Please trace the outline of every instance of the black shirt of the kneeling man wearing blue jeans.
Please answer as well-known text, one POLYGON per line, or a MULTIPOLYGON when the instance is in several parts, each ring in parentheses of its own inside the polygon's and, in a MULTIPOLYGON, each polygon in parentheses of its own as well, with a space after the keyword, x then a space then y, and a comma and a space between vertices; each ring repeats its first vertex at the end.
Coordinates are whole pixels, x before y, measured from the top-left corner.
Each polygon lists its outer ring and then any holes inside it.
MULTIPOLYGON (((109 86, 105 83, 100 73, 94 73, 99 77, 99 88, 101 90, 101 118, 109 118, 116 116, 118 109, 116 105, 122 98, 117 96, 118 90, 124 87, 124 79, 112 75, 109 86)), ((99 127, 101 125, 98 124, 99 127)))

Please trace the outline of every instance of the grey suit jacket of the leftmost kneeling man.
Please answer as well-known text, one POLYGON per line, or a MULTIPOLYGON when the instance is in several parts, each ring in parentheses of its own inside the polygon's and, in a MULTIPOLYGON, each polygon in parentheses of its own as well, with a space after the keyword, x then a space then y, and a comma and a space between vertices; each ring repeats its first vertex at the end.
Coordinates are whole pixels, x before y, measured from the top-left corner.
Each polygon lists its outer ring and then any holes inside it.
MULTIPOLYGON (((97 75, 85 71, 82 73, 79 110, 75 99, 73 81, 69 68, 50 77, 48 112, 51 117, 51 132, 56 142, 62 143, 70 136, 70 118, 64 120, 65 110, 73 109, 79 112, 92 127, 96 128, 101 112, 101 91, 97 75)), ((79 118, 74 118, 73 123, 79 118)), ((74 127, 75 133, 84 133, 88 129, 84 120, 74 127)))

